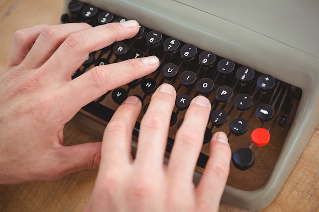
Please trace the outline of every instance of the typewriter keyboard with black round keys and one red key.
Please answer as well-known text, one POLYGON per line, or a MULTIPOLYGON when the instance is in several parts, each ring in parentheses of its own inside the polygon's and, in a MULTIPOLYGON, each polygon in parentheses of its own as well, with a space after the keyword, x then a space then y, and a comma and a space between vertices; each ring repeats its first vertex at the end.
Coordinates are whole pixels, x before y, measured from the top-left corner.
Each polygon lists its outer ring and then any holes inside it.
MULTIPOLYGON (((68 9, 69 13, 61 17, 64 23, 87 22, 95 26, 126 20, 112 11, 74 0, 68 9)), ((134 38, 90 53, 72 78, 94 66, 148 55, 156 55, 161 60, 155 72, 109 91, 82 111, 108 122, 127 96, 137 95, 143 101, 143 111, 134 130, 134 135, 138 136, 139 121, 152 93, 162 83, 172 84, 177 98, 166 149, 169 156, 174 135, 192 98, 206 96, 212 109, 196 170, 202 172, 205 167, 212 134, 224 131, 232 149, 227 185, 245 191, 261 188, 281 151, 302 90, 247 65, 237 64, 231 58, 216 55, 214 49, 200 49, 142 25, 134 38)))

